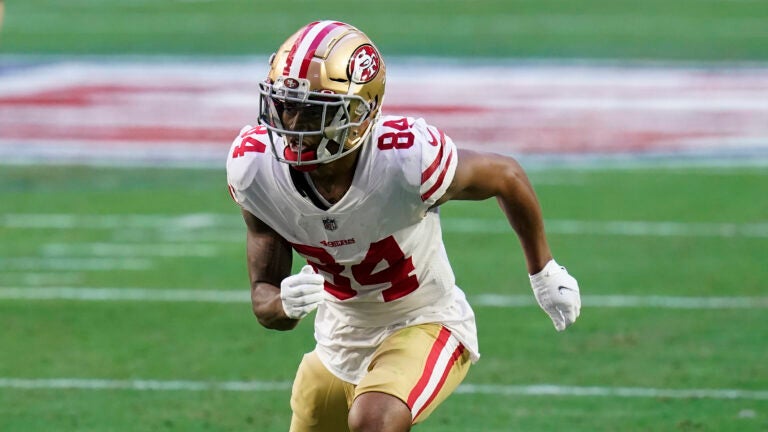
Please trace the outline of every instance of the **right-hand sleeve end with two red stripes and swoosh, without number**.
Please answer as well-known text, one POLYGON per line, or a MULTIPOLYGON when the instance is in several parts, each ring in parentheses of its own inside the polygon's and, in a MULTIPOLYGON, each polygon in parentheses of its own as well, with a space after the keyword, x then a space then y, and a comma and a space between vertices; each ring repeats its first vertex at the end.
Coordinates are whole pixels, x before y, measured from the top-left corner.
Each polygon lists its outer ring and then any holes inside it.
POLYGON ((421 145, 419 194, 426 207, 434 205, 448 190, 456 174, 458 151, 443 131, 418 119, 413 124, 416 142, 421 145))

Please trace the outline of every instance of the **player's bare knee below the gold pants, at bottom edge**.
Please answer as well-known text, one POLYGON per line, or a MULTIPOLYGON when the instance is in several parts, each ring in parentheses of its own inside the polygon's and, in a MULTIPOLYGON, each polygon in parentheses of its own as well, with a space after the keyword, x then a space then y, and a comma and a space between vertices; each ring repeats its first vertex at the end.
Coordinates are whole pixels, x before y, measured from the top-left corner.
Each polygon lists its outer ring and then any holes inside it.
POLYGON ((352 404, 347 422, 351 432, 407 432, 411 430, 411 411, 394 396, 364 393, 352 404))

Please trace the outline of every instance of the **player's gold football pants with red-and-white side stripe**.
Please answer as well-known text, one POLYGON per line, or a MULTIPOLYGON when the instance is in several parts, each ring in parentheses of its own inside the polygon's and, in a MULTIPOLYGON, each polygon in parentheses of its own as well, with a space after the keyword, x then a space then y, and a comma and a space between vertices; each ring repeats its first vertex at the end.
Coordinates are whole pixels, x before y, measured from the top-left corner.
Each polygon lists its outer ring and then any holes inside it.
POLYGON ((344 432, 358 395, 381 392, 405 402, 413 423, 423 421, 467 375, 469 352, 439 324, 401 329, 373 355, 355 386, 331 374, 313 351, 304 356, 291 394, 291 432, 344 432))

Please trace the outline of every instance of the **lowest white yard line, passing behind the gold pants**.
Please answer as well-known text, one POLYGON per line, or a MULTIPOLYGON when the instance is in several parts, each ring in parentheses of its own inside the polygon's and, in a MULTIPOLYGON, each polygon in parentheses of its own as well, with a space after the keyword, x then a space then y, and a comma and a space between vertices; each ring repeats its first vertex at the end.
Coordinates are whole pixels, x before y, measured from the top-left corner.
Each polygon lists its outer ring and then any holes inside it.
MULTIPOLYGON (((82 378, 0 378, 0 388, 17 390, 133 390, 133 391, 229 391, 287 392, 289 381, 184 381, 106 380, 82 378)), ((456 394, 494 396, 571 396, 668 399, 768 400, 766 390, 661 389, 649 387, 593 387, 543 385, 462 384, 456 394)))

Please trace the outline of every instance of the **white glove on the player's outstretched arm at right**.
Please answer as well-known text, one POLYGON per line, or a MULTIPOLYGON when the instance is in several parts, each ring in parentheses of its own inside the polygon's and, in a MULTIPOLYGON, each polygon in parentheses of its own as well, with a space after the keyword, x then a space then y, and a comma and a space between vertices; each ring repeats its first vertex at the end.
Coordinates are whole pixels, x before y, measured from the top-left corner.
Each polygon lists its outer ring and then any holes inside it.
POLYGON ((535 275, 529 275, 536 301, 552 318, 557 331, 563 331, 576 321, 581 311, 579 283, 565 267, 550 260, 535 275))

